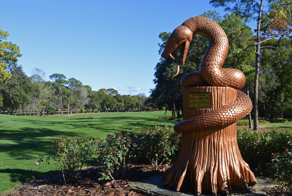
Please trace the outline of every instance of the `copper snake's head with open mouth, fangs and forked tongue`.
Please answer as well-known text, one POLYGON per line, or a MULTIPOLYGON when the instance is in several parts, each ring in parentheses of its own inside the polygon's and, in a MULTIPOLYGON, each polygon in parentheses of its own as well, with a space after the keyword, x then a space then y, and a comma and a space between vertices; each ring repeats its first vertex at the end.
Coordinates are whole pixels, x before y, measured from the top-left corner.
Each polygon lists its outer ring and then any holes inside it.
POLYGON ((161 54, 161 57, 163 58, 171 58, 172 60, 175 60, 173 57, 173 54, 176 53, 180 48, 182 48, 182 51, 180 52, 180 57, 177 60, 177 72, 172 77, 176 77, 179 72, 179 62, 180 59, 183 59, 183 64, 185 63, 185 59, 187 57, 187 51, 190 47, 190 42, 192 41, 193 33, 190 29, 188 29, 186 26, 178 26, 175 28, 175 30, 171 33, 169 39, 166 41, 165 48, 163 53, 161 54))

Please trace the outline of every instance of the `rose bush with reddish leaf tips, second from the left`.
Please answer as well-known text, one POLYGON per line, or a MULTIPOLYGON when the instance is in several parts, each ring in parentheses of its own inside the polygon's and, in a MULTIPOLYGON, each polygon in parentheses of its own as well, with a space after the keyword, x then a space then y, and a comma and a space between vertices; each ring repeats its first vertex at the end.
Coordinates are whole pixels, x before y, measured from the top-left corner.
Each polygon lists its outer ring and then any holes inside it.
POLYGON ((133 140, 127 132, 108 135, 105 141, 95 140, 94 152, 98 165, 102 166, 100 179, 117 178, 121 173, 125 174, 126 160, 130 157, 133 148, 133 140))

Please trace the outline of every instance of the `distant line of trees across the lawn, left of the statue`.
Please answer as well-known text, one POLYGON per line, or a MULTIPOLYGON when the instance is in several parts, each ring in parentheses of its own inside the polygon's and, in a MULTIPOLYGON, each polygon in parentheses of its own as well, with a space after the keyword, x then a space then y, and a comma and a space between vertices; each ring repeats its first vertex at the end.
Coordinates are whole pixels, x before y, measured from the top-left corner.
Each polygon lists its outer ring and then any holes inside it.
POLYGON ((34 116, 58 112, 67 115, 79 112, 120 112, 150 111, 145 93, 138 95, 120 95, 115 89, 93 91, 75 78, 66 79, 63 74, 49 76, 45 81, 43 70, 34 68, 31 77, 22 66, 8 67, 11 78, 0 84, 0 113, 16 114, 21 112, 34 116))

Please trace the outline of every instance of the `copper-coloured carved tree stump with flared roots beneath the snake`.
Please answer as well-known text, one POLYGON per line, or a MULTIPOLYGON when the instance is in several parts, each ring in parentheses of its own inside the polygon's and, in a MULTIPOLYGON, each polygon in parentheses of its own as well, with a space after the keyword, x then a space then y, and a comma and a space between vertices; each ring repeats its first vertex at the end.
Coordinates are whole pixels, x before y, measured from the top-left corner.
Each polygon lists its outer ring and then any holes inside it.
MULTIPOLYGON (((237 90, 230 87, 184 89, 183 119, 204 114, 233 102, 237 90), (210 109, 189 108, 189 93, 210 92, 210 109)), ((219 114, 220 115, 220 114, 219 114)), ((248 191, 256 178, 244 162, 237 145, 236 122, 216 129, 183 133, 179 155, 166 170, 163 185, 197 195, 229 195, 232 190, 248 191)))

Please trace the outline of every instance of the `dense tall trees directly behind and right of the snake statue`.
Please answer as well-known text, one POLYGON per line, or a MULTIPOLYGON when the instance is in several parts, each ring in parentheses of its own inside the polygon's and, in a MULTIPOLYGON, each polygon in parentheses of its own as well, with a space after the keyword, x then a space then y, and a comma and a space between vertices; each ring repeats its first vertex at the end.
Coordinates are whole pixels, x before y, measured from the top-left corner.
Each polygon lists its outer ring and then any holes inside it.
MULTIPOLYGON (((254 129, 258 129, 258 117, 291 118, 291 5, 292 1, 265 1, 267 11, 263 11, 260 1, 210 1, 215 7, 224 6, 230 14, 220 16, 216 11, 205 12, 202 16, 217 22, 229 40, 229 53, 223 67, 237 68, 246 75, 246 87, 241 89, 253 100, 251 115, 254 129), (232 7, 233 6, 233 7, 232 7), (257 20, 256 34, 247 22, 257 20)), ((171 32, 162 32, 159 38, 159 54, 171 32)), ((180 64, 178 77, 171 79, 176 64, 170 59, 160 59, 155 67, 155 88, 151 90, 152 102, 158 108, 166 107, 173 117, 182 114, 181 77, 198 71, 201 59, 208 48, 206 38, 194 35, 187 60, 180 64)), ((178 58, 178 51, 175 59, 178 58)), ((250 117, 251 118, 251 117, 250 117)), ((251 125, 250 125, 251 126, 251 125)))

